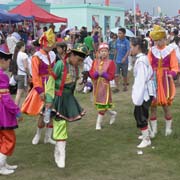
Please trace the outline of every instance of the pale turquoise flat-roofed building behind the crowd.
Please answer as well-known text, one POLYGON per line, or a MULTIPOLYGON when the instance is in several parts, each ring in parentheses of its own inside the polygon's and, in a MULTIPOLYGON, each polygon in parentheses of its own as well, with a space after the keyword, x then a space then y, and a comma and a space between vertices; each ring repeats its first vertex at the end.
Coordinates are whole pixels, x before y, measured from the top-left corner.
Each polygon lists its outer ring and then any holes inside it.
POLYGON ((124 26, 125 10, 119 7, 104 5, 82 4, 82 5, 53 5, 51 13, 68 19, 68 27, 86 26, 91 31, 94 26, 102 27, 103 34, 107 28, 124 26))

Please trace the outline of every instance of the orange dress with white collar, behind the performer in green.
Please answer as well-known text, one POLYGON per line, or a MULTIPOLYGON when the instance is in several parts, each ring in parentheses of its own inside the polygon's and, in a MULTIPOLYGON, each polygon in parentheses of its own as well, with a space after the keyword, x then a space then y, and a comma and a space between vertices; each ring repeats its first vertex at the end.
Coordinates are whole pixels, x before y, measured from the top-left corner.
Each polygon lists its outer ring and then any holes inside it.
POLYGON ((25 99, 21 111, 29 115, 37 115, 43 108, 44 102, 39 94, 45 92, 45 84, 48 77, 52 75, 51 69, 55 63, 55 54, 44 50, 36 52, 32 58, 32 82, 33 89, 25 99))

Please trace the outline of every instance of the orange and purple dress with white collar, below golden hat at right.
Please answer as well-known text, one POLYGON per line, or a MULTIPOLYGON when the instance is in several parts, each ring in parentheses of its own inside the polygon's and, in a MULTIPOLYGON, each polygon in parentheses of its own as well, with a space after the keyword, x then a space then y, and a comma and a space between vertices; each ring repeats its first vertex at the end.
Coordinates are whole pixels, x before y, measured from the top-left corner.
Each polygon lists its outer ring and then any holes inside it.
POLYGON ((169 46, 163 49, 154 46, 149 51, 148 57, 157 87, 157 97, 153 100, 152 105, 170 105, 176 90, 173 80, 178 72, 176 53, 169 46))

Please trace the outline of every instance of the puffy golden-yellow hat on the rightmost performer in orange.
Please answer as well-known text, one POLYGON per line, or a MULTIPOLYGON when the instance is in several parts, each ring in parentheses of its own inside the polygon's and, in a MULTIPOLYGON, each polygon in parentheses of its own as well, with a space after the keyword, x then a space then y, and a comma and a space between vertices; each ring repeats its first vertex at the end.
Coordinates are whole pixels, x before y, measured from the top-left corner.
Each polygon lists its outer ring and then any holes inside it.
POLYGON ((166 38, 166 30, 159 25, 154 25, 153 30, 150 32, 150 37, 153 41, 158 41, 166 38))

